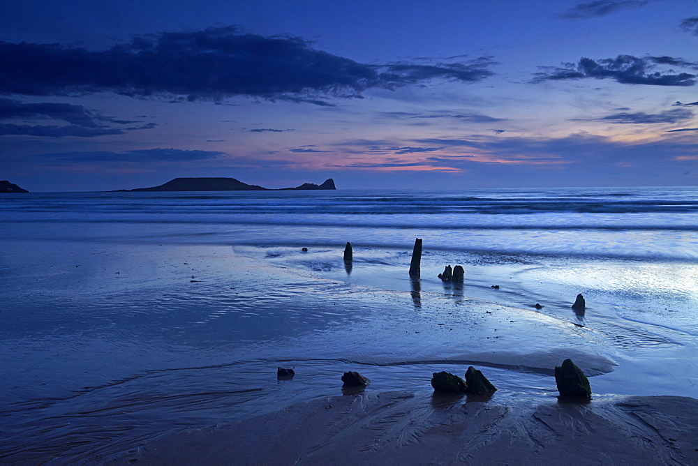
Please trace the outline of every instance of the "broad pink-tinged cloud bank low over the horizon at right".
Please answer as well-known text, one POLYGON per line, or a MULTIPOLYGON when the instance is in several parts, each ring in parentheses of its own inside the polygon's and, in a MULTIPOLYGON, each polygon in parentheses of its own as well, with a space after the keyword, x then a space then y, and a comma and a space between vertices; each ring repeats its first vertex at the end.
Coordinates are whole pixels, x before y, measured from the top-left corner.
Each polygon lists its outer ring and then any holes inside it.
POLYGON ((617 179, 623 179, 626 173, 623 170, 635 170, 636 174, 666 175, 672 170, 680 170, 677 157, 698 158, 695 137, 686 132, 664 134, 651 140, 620 140, 581 132, 565 137, 500 137, 493 133, 481 133, 468 137, 399 142, 343 140, 333 146, 338 152, 349 156, 325 158, 320 161, 320 167, 380 172, 445 170, 487 176, 500 176, 503 173, 521 176, 527 173, 549 175, 549 181, 554 183, 559 183, 563 178, 570 179, 570 176, 593 183, 611 173, 617 179), (398 154, 400 148, 410 147, 438 148, 438 152, 405 151, 398 154))

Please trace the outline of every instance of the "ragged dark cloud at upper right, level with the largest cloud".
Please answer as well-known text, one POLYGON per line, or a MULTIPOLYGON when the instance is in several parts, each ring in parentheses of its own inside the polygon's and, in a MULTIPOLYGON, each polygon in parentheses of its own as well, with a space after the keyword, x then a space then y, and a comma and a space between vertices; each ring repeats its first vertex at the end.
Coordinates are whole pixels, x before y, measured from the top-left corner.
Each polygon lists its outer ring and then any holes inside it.
POLYGON ((654 71, 655 64, 664 64, 669 60, 681 61, 691 66, 698 63, 674 59, 672 57, 638 58, 632 55, 618 55, 614 59, 582 58, 576 65, 566 63, 564 68, 541 67, 546 72, 535 73, 533 82, 579 80, 593 77, 597 80, 611 79, 621 84, 648 84, 653 86, 693 86, 696 75, 691 73, 667 73, 654 71))

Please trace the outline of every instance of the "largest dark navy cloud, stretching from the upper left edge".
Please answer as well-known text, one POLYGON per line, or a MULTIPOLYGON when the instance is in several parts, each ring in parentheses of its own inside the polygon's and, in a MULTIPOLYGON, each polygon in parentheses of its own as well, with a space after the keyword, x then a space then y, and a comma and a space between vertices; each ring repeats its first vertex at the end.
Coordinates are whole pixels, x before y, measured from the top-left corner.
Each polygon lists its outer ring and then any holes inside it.
POLYGON ((0 93, 112 91, 187 100, 255 96, 331 105, 322 98, 358 97, 366 89, 396 89, 434 79, 479 82, 493 75, 493 63, 491 57, 481 57, 461 63, 369 65, 315 50, 299 37, 209 27, 136 36, 100 51, 0 42, 0 93))

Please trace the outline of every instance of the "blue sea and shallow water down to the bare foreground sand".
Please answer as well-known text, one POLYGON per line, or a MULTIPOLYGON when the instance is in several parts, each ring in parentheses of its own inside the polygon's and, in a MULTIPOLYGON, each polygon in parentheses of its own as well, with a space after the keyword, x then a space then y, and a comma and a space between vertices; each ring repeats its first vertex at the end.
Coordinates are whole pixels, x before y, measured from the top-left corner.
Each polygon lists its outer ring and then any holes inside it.
POLYGON ((552 403, 570 357, 592 403, 698 398, 695 187, 6 194, 0 218, 0 463, 357 396, 348 370, 429 397, 475 366, 490 403, 552 403))

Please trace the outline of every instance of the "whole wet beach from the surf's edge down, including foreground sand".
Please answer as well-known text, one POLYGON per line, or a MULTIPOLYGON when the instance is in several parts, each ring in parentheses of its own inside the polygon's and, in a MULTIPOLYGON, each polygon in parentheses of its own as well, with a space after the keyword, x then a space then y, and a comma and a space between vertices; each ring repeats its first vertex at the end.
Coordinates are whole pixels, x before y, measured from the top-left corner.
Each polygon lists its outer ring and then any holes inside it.
POLYGON ((562 299, 566 318, 512 306, 505 287, 472 298, 426 267, 421 289, 406 273, 392 288, 227 246, 15 243, 0 463, 698 463, 698 402, 674 397, 698 398, 695 338, 597 303, 578 326, 562 299), (568 357, 591 404, 558 404, 568 357), (277 382, 280 365, 295 379, 277 382), (432 396, 431 373, 470 365, 491 400, 432 396), (339 396, 346 370, 369 388, 339 396), (669 396, 623 398, 646 395, 669 396))

